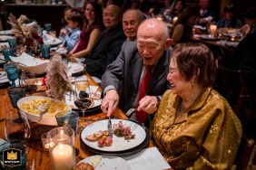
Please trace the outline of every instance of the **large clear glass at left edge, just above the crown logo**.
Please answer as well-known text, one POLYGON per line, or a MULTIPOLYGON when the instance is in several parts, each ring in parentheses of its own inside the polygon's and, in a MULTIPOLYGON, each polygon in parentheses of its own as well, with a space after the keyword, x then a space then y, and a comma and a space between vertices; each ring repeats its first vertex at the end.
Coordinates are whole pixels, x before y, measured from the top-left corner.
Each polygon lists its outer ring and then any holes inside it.
POLYGON ((26 140, 30 137, 31 130, 23 111, 11 109, 5 118, 5 138, 7 141, 26 140))

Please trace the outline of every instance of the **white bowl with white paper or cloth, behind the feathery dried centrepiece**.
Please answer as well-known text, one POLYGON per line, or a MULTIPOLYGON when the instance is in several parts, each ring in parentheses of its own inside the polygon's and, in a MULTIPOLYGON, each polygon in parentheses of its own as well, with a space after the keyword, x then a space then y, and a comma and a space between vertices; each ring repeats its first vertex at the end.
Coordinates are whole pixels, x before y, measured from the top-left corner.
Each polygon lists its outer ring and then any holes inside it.
POLYGON ((23 52, 19 57, 10 56, 10 59, 17 62, 20 69, 24 71, 33 71, 37 75, 44 74, 44 72, 46 72, 46 66, 49 62, 36 59, 25 52, 23 52))

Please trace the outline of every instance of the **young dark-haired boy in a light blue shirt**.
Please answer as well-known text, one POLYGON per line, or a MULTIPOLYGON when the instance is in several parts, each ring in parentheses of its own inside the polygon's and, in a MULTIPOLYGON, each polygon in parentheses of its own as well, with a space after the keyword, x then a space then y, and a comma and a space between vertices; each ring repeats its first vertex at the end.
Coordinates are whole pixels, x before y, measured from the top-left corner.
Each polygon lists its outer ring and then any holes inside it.
POLYGON ((64 34, 64 46, 67 52, 70 52, 74 45, 79 41, 79 36, 81 33, 81 27, 83 26, 82 15, 76 11, 71 12, 66 18, 70 32, 64 34))

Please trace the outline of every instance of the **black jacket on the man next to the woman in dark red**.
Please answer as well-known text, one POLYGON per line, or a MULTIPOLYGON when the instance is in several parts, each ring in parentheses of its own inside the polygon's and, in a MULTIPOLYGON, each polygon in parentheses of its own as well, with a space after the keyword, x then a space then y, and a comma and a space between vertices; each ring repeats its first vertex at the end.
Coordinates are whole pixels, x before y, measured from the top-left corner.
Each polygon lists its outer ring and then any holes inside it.
POLYGON ((104 30, 99 35, 91 54, 85 56, 86 71, 101 79, 108 64, 118 56, 125 40, 122 24, 111 30, 104 30))

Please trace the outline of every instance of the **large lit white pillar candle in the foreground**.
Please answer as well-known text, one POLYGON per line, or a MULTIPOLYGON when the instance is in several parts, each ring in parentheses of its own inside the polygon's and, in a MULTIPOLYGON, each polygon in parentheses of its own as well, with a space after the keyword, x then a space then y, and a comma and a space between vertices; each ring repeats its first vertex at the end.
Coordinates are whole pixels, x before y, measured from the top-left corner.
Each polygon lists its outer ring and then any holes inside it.
POLYGON ((74 167, 73 148, 69 145, 58 145, 53 149, 55 170, 72 170, 74 167))

